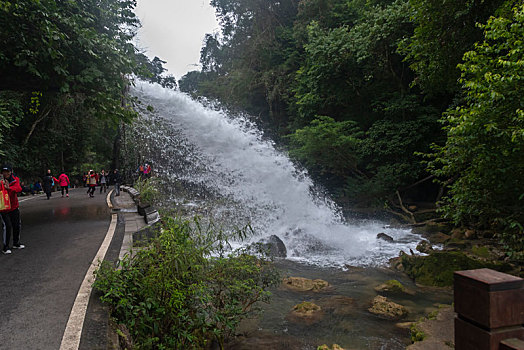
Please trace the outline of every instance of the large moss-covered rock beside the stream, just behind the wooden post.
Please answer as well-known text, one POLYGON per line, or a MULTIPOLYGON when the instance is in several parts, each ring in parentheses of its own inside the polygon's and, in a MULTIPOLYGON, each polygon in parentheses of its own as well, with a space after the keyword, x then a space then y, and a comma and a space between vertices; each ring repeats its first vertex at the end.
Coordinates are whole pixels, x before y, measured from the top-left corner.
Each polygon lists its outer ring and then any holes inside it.
POLYGON ((509 264, 480 261, 460 251, 434 251, 428 256, 403 255, 404 272, 417 283, 428 286, 453 285, 453 272, 490 268, 501 272, 512 270, 509 264))

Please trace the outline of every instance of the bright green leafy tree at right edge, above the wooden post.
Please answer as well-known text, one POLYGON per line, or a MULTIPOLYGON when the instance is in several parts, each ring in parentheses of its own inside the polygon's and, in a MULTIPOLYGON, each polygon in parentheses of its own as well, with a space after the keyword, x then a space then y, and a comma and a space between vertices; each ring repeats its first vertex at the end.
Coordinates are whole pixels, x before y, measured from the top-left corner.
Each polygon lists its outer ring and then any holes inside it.
POLYGON ((464 55, 464 104, 444 116, 447 142, 435 146, 430 169, 444 183, 444 215, 457 224, 503 232, 524 250, 524 7, 491 18, 484 41, 464 55))

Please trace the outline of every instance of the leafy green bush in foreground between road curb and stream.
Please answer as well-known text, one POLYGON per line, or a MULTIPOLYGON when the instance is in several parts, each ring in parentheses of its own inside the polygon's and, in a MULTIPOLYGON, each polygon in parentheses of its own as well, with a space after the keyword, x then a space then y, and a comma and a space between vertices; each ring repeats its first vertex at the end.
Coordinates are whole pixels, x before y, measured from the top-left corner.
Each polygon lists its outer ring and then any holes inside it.
POLYGON ((267 261, 228 251, 230 238, 196 219, 167 219, 146 249, 118 268, 102 264, 94 286, 139 348, 201 349, 213 338, 222 346, 279 280, 267 261))

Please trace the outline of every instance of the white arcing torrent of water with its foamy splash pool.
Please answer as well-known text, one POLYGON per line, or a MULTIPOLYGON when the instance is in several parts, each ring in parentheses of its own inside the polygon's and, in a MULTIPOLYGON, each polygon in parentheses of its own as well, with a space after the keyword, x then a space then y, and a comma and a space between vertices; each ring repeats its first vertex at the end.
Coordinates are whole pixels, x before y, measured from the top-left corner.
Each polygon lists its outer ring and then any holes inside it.
POLYGON ((346 222, 333 201, 314 190, 307 173, 246 118, 145 82, 137 82, 133 94, 154 107, 142 114, 157 127, 143 128, 150 134, 141 137, 156 149, 149 153, 156 172, 214 198, 187 205, 212 207, 212 215, 223 221, 250 222, 256 233, 252 241, 275 234, 289 259, 343 267, 384 264, 420 240, 380 222, 346 222), (394 242, 377 240, 379 232, 394 242))

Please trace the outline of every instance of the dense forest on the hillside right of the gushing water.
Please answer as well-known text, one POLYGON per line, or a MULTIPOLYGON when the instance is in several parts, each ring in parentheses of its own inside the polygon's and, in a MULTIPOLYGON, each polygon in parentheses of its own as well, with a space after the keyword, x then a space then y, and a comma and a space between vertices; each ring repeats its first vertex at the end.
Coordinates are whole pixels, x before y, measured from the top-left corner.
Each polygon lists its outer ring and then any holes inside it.
POLYGON ((435 203, 523 250, 521 1, 211 4, 182 91, 257 117, 339 203, 435 203))

